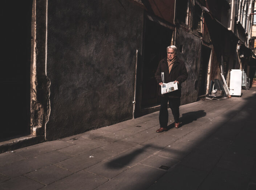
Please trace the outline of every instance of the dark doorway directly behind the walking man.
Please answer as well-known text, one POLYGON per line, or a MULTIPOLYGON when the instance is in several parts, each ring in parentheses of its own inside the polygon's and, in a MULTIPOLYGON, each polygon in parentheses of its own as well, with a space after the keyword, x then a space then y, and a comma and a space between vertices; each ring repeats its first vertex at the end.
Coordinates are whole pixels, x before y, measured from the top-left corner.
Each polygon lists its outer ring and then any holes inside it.
POLYGON ((166 48, 171 44, 172 30, 156 22, 146 20, 143 55, 142 107, 151 107, 159 103, 155 72, 158 63, 166 57, 166 48))

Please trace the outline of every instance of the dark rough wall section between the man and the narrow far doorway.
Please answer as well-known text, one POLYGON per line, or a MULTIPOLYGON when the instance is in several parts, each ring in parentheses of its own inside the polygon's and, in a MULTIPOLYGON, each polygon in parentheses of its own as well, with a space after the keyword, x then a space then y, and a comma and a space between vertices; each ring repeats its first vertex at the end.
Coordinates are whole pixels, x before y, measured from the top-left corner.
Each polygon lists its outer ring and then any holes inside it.
POLYGON ((198 97, 198 71, 200 66, 201 40, 184 31, 176 28, 177 55, 181 58, 187 67, 188 78, 182 83, 181 104, 195 102, 198 97), (183 45, 183 51, 181 51, 183 45))

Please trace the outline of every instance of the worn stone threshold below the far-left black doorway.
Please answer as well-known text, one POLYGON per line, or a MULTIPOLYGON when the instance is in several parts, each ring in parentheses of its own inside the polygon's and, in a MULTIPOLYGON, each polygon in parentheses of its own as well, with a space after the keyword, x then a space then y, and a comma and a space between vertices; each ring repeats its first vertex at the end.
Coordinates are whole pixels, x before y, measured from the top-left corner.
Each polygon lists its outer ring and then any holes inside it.
POLYGON ((0 142, 0 153, 31 146, 45 141, 44 136, 27 135, 16 139, 0 142))

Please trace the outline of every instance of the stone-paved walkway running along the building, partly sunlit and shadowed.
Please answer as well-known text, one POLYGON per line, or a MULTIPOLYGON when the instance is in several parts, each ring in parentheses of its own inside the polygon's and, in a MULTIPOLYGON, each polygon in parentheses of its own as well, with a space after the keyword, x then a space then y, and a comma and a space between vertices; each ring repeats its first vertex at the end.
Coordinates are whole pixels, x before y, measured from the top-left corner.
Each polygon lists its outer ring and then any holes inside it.
POLYGON ((0 154, 0 189, 256 188, 256 88, 0 154))

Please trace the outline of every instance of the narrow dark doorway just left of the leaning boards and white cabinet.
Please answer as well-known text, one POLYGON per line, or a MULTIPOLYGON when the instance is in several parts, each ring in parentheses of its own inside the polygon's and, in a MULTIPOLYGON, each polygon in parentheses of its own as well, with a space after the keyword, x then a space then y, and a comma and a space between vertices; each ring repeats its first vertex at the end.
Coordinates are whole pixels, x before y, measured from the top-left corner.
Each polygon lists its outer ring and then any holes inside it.
POLYGON ((211 49, 202 45, 201 48, 201 61, 199 67, 199 76, 198 76, 198 96, 206 94, 206 85, 207 85, 207 71, 208 64, 211 56, 211 49))

